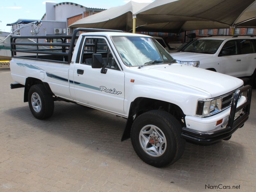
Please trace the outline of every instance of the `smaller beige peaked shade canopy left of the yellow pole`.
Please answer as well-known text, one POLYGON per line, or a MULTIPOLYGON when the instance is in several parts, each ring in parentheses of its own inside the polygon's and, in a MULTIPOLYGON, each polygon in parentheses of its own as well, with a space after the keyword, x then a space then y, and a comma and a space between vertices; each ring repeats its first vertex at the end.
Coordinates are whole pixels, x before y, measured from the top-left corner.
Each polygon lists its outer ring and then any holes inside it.
POLYGON ((80 19, 70 25, 69 28, 88 27, 129 31, 132 29, 132 15, 148 4, 130 1, 122 6, 112 7, 80 19))

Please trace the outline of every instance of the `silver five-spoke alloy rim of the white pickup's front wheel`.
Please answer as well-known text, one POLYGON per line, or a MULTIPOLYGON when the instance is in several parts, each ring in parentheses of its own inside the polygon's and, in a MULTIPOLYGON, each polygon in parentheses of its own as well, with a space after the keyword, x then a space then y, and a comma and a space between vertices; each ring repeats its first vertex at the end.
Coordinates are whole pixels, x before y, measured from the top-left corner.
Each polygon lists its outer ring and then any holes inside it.
POLYGON ((150 156, 158 157, 164 154, 166 138, 155 125, 146 125, 140 130, 140 146, 150 156))

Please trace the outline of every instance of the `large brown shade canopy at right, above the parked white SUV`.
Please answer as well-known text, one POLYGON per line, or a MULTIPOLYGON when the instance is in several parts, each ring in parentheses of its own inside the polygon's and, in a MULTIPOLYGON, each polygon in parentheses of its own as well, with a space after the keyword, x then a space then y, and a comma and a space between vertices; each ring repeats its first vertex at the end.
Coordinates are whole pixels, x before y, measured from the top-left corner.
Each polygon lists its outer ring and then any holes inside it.
MULTIPOLYGON (((146 24, 137 30, 156 32, 187 31, 205 28, 253 26, 256 17, 255 0, 156 0, 136 12, 138 20, 146 24), (248 21, 249 22, 249 21, 248 21)), ((255 25, 254 25, 255 27, 255 25)))

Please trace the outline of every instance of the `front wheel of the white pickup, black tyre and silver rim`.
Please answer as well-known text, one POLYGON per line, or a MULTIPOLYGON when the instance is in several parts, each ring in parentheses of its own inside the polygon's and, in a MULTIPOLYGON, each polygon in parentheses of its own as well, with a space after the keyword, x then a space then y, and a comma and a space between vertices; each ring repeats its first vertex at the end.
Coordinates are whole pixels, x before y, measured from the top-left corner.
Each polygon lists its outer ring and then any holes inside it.
POLYGON ((155 167, 173 164, 185 149, 178 120, 161 110, 138 116, 132 124, 131 140, 140 159, 155 167))

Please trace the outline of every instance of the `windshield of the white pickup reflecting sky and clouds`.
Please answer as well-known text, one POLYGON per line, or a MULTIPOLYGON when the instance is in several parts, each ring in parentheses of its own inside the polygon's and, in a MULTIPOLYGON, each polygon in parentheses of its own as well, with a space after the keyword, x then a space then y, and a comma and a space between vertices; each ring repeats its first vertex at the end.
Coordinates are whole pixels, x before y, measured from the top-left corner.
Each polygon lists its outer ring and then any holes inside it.
POLYGON ((115 36, 112 37, 117 51, 127 66, 141 66, 151 61, 154 65, 170 63, 171 55, 153 38, 115 36))

